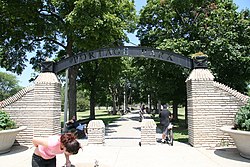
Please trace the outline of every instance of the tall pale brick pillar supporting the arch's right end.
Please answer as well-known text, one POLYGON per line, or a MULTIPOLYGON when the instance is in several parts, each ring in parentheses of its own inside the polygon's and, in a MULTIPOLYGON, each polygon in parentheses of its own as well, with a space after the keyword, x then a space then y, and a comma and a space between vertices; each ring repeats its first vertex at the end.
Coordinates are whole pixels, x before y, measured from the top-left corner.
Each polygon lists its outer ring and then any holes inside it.
POLYGON ((186 80, 189 143, 194 147, 216 145, 216 114, 213 110, 214 76, 208 69, 194 69, 186 80))

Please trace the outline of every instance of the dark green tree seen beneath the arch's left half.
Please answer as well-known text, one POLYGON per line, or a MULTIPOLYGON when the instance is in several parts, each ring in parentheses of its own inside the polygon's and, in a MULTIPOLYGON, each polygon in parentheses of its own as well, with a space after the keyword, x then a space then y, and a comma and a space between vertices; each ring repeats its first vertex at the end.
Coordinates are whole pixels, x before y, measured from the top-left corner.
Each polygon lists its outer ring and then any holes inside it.
MULTIPOLYGON (((109 58, 84 63, 80 67, 78 82, 90 92, 90 119, 95 119, 95 106, 98 100, 107 100, 108 94, 117 96, 116 91, 112 92, 112 86, 119 83, 122 66, 121 58, 109 58)), ((116 98, 113 98, 113 101, 115 102, 116 98)), ((116 108, 115 104, 113 108, 116 108)))

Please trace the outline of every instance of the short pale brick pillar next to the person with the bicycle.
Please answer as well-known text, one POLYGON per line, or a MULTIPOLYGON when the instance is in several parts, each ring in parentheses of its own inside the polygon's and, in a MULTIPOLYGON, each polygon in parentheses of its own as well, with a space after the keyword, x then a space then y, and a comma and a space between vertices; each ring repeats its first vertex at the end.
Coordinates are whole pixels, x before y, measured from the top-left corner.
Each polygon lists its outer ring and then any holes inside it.
POLYGON ((143 119, 141 123, 141 145, 156 144, 156 124, 153 119, 143 119))

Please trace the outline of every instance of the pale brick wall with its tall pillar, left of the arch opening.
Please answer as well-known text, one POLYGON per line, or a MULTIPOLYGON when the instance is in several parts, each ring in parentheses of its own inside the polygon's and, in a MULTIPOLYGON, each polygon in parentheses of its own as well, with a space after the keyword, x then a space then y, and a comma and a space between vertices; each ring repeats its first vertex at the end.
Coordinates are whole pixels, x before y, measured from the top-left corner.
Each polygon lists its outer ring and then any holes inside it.
POLYGON ((27 126, 19 132, 15 144, 31 145, 34 136, 49 136, 61 132, 60 83, 54 73, 41 73, 35 85, 19 91, 4 100, 0 108, 10 114, 18 126, 27 126))

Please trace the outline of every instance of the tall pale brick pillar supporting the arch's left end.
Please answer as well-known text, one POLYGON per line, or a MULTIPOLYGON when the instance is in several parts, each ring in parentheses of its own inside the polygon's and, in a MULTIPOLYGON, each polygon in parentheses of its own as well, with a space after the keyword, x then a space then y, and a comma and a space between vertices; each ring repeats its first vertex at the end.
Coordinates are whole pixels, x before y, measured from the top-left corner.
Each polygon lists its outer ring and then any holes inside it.
POLYGON ((34 136, 61 133, 61 84, 51 72, 35 80, 33 111, 30 113, 34 136))

